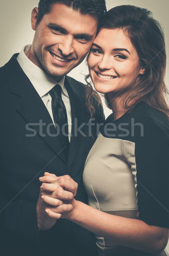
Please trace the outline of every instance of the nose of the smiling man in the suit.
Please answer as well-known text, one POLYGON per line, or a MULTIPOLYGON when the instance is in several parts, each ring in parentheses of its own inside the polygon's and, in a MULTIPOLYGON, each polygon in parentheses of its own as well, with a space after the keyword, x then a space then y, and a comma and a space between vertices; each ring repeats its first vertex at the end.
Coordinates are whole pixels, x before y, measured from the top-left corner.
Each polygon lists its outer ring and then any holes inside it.
POLYGON ((63 55, 70 55, 74 52, 73 48, 73 38, 69 36, 65 36, 63 41, 60 42, 58 48, 62 51, 63 55))

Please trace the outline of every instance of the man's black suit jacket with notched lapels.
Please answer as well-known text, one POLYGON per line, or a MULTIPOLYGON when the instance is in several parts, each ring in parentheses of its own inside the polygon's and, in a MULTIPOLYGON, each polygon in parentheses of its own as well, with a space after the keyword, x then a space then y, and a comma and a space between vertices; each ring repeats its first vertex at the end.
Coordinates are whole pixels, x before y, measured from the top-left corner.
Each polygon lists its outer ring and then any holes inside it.
POLYGON ((87 203, 83 166, 97 137, 96 123, 103 122, 103 110, 97 108, 92 136, 89 136, 85 87, 66 76, 73 123, 69 159, 66 161, 49 112, 16 57, 17 54, 0 68, 2 255, 37 256, 44 252, 56 256, 97 255, 93 234, 68 220, 60 219, 50 230, 38 232, 36 204, 40 193, 39 177, 44 172, 71 175, 78 183, 76 199, 87 203), (40 122, 43 125, 40 126, 40 122), (76 127, 80 127, 80 133, 76 127))

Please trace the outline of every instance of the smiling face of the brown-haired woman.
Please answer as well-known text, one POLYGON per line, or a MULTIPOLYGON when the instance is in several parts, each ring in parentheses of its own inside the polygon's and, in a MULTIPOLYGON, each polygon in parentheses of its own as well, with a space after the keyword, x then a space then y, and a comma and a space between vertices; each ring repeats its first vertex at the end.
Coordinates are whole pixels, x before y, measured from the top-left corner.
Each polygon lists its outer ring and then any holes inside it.
POLYGON ((89 73, 99 93, 122 95, 143 74, 136 49, 122 29, 102 29, 92 45, 89 73))

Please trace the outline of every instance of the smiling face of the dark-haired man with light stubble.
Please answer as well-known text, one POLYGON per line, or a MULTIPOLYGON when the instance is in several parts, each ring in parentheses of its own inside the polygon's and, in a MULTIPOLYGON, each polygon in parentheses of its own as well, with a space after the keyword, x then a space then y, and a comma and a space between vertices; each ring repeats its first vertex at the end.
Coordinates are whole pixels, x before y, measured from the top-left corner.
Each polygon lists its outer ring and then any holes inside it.
POLYGON ((97 19, 56 3, 36 25, 37 12, 37 8, 32 11, 32 28, 36 32, 27 56, 59 81, 89 52, 97 32, 97 19))

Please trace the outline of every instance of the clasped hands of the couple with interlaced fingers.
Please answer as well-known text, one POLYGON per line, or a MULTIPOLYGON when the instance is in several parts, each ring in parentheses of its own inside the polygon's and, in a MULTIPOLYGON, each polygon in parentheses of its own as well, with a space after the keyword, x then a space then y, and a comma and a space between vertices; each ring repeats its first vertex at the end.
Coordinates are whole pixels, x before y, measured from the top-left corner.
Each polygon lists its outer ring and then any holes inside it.
POLYGON ((76 205, 74 196, 78 184, 69 176, 57 177, 45 172, 40 177, 40 195, 37 201, 37 224, 39 230, 53 227, 57 219, 68 218, 76 205))

